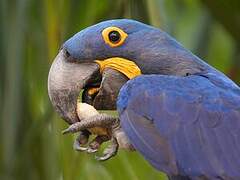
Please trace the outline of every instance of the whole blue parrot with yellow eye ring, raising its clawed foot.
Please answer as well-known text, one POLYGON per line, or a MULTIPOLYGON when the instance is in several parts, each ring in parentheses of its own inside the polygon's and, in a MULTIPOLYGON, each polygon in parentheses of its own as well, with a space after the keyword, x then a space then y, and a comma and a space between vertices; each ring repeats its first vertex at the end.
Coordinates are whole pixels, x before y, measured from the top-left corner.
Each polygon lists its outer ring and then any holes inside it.
MULTIPOLYGON (((158 28, 117 19, 80 31, 62 45, 48 91, 70 124, 64 133, 80 133, 80 150, 88 128, 117 127, 170 179, 240 179, 240 88, 158 28), (119 119, 99 114, 81 121, 81 89, 83 102, 117 109, 119 119)), ((118 143, 109 134, 97 136, 88 151, 109 139, 114 146, 100 160, 110 158, 118 143)))

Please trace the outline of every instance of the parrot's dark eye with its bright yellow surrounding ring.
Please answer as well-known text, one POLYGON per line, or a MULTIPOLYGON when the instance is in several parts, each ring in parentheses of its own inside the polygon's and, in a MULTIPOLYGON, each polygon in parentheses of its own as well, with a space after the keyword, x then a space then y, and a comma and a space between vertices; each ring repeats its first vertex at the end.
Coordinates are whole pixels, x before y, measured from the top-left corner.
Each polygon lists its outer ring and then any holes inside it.
POLYGON ((102 37, 106 44, 111 47, 122 45, 127 38, 127 33, 118 27, 107 27, 102 31, 102 37))

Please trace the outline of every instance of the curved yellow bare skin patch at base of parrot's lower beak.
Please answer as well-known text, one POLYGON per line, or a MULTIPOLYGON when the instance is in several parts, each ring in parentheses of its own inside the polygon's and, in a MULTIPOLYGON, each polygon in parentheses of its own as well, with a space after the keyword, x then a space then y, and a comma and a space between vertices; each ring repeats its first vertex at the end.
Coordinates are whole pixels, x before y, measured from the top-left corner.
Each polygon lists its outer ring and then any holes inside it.
POLYGON ((133 61, 124 58, 114 57, 105 60, 96 60, 95 62, 99 64, 101 73, 105 68, 112 68, 123 73, 129 79, 142 74, 139 67, 133 61))

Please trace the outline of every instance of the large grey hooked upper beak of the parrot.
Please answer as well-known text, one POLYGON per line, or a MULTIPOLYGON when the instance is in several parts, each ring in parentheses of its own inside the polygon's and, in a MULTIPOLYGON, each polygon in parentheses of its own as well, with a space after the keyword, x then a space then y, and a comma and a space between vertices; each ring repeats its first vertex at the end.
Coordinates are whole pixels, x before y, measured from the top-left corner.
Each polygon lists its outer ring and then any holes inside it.
POLYGON ((96 63, 78 63, 62 49, 48 75, 48 94, 55 110, 69 124, 79 121, 76 103, 79 92, 99 76, 96 63))

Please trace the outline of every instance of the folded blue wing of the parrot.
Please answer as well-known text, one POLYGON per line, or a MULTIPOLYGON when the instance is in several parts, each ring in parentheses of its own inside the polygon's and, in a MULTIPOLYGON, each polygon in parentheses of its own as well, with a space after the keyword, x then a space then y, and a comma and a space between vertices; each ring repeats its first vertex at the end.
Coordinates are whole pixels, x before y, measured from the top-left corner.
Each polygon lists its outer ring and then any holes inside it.
POLYGON ((240 90, 212 81, 148 75, 121 89, 121 125, 157 169, 189 177, 240 178, 240 90))

